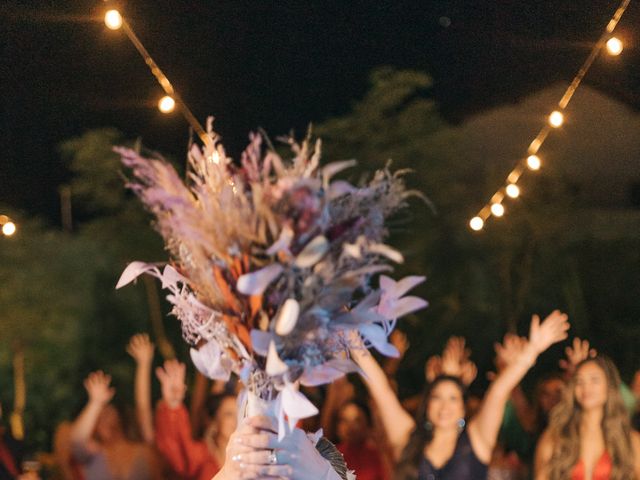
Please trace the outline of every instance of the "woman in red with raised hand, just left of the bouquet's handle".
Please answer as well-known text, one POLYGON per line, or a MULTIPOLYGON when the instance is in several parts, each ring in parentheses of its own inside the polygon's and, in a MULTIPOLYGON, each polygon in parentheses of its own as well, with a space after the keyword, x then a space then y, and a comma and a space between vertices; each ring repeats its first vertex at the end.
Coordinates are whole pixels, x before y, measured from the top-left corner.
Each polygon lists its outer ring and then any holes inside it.
POLYGON ((162 400, 156 409, 156 445, 171 469, 182 478, 211 480, 225 459, 229 438, 236 430, 236 397, 214 395, 207 399, 209 421, 201 440, 192 437, 189 413, 184 406, 186 367, 167 360, 156 374, 162 400))

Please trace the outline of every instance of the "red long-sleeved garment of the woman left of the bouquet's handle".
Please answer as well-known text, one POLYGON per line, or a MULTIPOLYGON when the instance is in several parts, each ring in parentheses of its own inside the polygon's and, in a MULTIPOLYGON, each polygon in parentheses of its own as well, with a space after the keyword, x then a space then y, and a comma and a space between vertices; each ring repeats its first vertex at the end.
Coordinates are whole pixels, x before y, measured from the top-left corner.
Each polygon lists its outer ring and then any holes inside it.
POLYGON ((220 466, 202 441, 191 436, 189 414, 160 402, 156 409, 156 446, 171 469, 187 480, 211 480, 220 466))

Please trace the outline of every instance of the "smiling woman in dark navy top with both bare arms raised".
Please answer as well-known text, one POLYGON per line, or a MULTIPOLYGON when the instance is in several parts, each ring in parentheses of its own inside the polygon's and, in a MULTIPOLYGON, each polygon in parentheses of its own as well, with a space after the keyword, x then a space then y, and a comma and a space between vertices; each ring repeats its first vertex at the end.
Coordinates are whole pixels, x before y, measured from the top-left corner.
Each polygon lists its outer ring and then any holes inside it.
POLYGON ((380 408, 383 424, 399 461, 398 480, 486 480, 511 390, 534 365, 538 355, 567 337, 567 316, 554 311, 544 322, 534 316, 529 340, 504 352, 508 365, 491 383, 477 415, 465 426, 464 386, 441 376, 429 386, 414 420, 402 408, 381 368, 365 350, 353 356, 366 374, 367 387, 380 408))

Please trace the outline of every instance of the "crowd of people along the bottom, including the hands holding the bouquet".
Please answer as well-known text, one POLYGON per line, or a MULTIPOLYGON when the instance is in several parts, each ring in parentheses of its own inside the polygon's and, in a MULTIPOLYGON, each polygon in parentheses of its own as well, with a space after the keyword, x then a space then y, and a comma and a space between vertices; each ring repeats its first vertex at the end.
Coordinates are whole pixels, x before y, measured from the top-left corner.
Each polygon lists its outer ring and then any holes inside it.
MULTIPOLYGON (((238 420, 239 382, 211 383, 198 374, 187 392, 186 365, 178 360, 153 375, 154 345, 139 334, 127 346, 136 363, 135 421, 114 405, 110 376, 91 373, 86 405, 56 431, 55 478, 346 479, 325 454, 330 441, 359 480, 640 480, 640 375, 626 386, 608 357, 576 338, 532 395, 521 385, 568 330, 567 316, 554 311, 544 321, 534 316, 526 338, 507 334, 495 345, 495 371, 482 395, 467 394, 478 371, 462 338, 427 360, 424 392, 405 399, 395 380, 401 358, 379 363, 364 346, 353 348, 366 389, 344 377, 305 390, 320 414, 282 442, 271 419, 238 420), (155 408, 154 378, 161 387, 155 408), (308 432, 320 428, 318 441, 308 432), (321 455, 322 442, 328 446, 321 455)), ((406 337, 397 331, 391 340, 402 356, 406 337)), ((1 438, 0 480, 38 479, 21 472, 8 429, 1 438)))

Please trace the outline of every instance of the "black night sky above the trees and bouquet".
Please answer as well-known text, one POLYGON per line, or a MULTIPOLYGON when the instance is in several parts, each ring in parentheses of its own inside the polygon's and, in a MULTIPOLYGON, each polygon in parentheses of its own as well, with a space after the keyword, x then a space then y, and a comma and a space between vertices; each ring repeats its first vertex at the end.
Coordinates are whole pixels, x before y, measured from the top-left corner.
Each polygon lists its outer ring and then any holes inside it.
MULTIPOLYGON (((299 134, 345 113, 371 69, 415 68, 453 123, 569 82, 619 1, 187 1, 120 3, 195 115, 237 157, 249 131, 299 134)), ((156 109, 162 90, 99 0, 2 0, 0 205, 57 222, 68 172, 56 145, 115 126, 183 155, 188 126, 156 109)), ((640 108, 640 2, 617 30, 623 55, 587 83, 640 108)), ((550 106, 551 107, 551 106, 550 106)), ((534 134, 535 132, 532 132, 534 134)))

